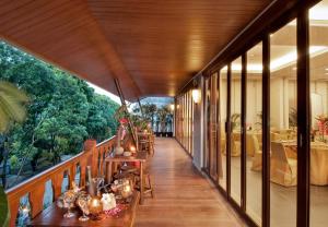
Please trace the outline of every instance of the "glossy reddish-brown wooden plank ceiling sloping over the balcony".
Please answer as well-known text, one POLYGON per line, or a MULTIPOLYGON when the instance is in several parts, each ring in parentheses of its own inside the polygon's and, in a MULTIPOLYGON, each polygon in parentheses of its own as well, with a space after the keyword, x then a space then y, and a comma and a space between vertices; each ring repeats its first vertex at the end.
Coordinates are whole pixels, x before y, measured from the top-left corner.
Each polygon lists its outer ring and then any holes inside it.
POLYGON ((0 37, 127 99, 175 96, 270 0, 1 0, 0 37))

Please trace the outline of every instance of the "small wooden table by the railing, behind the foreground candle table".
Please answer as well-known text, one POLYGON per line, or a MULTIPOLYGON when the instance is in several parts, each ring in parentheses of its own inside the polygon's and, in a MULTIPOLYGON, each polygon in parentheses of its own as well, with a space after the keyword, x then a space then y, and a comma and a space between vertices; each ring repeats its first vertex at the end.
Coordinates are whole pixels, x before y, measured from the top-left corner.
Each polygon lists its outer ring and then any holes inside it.
POLYGON ((112 176, 113 176, 113 163, 134 163, 139 162, 140 163, 140 204, 143 204, 143 191, 144 191, 144 186, 143 186, 143 164, 147 160, 147 152, 137 152, 137 154, 126 157, 122 155, 116 155, 116 156, 108 156, 105 158, 105 162, 108 164, 106 167, 107 171, 107 182, 112 181, 112 176))

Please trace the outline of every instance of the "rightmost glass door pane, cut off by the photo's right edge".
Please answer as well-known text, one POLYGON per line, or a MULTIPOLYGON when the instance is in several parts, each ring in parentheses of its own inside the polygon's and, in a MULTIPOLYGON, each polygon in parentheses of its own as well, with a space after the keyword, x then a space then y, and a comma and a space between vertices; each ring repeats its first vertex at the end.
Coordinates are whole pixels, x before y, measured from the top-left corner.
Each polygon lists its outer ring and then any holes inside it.
POLYGON ((311 218, 312 227, 328 223, 328 0, 309 10, 311 80, 311 218))

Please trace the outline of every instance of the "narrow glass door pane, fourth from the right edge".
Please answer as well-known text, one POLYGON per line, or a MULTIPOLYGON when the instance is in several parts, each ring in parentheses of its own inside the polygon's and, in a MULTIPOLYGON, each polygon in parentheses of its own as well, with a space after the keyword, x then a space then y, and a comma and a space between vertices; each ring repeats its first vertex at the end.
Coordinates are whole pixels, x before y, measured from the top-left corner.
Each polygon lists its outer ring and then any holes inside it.
POLYGON ((242 58, 232 62, 231 73, 231 196, 241 204, 242 58))

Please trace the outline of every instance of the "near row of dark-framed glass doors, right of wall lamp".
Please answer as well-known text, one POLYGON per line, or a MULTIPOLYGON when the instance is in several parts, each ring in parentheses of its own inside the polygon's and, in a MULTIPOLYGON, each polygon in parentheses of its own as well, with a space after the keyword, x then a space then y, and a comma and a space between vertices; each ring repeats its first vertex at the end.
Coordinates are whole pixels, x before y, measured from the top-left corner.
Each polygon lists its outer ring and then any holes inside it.
POLYGON ((206 80, 208 172, 250 226, 328 223, 328 0, 297 2, 206 80))

